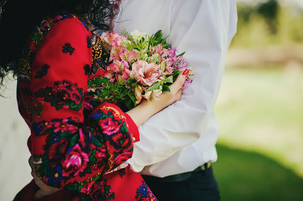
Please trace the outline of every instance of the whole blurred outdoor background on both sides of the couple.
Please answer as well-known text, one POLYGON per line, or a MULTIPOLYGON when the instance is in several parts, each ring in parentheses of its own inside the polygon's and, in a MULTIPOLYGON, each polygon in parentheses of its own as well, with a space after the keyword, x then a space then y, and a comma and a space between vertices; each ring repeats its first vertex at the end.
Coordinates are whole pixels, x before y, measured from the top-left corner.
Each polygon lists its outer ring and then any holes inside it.
MULTIPOLYGON (((237 6, 215 107, 221 131, 213 167, 222 200, 303 201, 303 0, 237 6)), ((7 88, 9 98, 0 98, 0 201, 31 179, 29 129, 16 108, 16 82, 7 88)))

